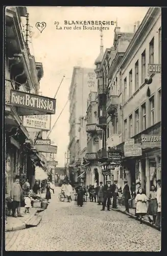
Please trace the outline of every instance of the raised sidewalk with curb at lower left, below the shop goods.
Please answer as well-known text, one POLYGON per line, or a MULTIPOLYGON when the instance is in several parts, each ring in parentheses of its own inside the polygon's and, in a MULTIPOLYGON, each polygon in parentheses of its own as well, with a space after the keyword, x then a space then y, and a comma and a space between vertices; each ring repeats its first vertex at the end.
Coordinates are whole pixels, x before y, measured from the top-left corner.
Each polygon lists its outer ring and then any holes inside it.
MULTIPOLYGON (((45 197, 45 193, 43 193, 41 197, 45 197)), ((30 209, 30 214, 25 214, 25 207, 21 207, 20 212, 23 217, 14 218, 12 216, 7 216, 5 231, 25 229, 27 225, 37 226, 42 219, 42 217, 38 215, 38 212, 40 211, 43 211, 43 209, 32 207, 30 209)))

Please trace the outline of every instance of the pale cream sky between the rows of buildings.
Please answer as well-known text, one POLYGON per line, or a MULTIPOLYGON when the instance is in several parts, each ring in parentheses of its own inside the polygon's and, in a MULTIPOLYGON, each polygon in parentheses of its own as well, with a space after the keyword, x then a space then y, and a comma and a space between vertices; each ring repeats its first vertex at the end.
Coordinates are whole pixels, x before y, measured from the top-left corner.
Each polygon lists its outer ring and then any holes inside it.
MULTIPOLYGON (((100 53, 99 30, 74 30, 74 25, 64 25, 64 20, 98 20, 113 21, 117 19, 118 27, 122 32, 133 32, 134 23, 141 22, 148 11, 148 7, 27 7, 31 37, 29 47, 36 62, 42 62, 43 78, 40 81, 40 91, 43 96, 53 97, 63 79, 56 96, 56 114, 52 115, 51 127, 57 120, 68 99, 69 87, 73 68, 95 68, 94 61, 100 53), (42 32, 36 28, 36 23, 46 23, 42 32), (71 27, 70 29, 56 29, 71 27), (56 24, 55 24, 56 23, 56 24)), ((25 25, 26 20, 22 20, 25 25)), ((115 24, 115 23, 114 23, 115 24)), ((79 27, 79 25, 78 25, 79 27)), ((88 25, 88 27, 91 27, 88 25)), ((98 26, 94 26, 98 27, 98 26)), ((100 26, 99 26, 100 27, 100 26)), ((104 52, 113 45, 114 27, 103 30, 104 52)), ((58 119, 50 134, 58 146, 58 166, 64 166, 64 153, 69 143, 69 102, 58 119)))

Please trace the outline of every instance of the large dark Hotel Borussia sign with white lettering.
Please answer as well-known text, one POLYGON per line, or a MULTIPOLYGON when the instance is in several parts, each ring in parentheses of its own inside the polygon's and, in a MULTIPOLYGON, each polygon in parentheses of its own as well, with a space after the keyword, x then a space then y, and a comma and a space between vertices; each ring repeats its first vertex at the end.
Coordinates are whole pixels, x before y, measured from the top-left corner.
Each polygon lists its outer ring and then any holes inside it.
POLYGON ((10 91, 10 104, 17 106, 18 115, 55 114, 56 99, 36 94, 10 91))

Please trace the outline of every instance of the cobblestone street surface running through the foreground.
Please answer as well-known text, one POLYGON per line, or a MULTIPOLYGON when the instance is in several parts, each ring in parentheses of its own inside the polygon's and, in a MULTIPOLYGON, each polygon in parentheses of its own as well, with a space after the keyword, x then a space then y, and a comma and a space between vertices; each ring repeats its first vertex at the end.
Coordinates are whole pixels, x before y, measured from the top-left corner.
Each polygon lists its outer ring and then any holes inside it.
POLYGON ((96 203, 60 202, 55 195, 37 227, 6 232, 14 251, 159 251, 161 233, 96 203))

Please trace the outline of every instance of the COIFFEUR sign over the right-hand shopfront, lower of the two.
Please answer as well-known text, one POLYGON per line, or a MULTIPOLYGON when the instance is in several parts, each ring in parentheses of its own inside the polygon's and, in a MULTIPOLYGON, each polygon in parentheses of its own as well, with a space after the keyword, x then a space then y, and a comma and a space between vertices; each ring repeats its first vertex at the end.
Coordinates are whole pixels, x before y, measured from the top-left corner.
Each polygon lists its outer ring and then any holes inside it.
POLYGON ((161 135, 141 135, 141 147, 147 148, 147 147, 161 147, 161 135))

